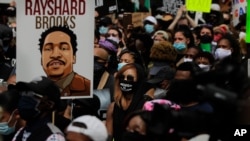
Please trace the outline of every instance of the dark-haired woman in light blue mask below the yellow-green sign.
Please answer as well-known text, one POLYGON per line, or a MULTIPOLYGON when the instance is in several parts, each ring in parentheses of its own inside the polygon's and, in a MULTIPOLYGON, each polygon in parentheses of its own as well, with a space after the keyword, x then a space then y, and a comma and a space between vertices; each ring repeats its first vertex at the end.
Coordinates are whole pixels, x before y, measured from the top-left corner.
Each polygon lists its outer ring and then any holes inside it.
POLYGON ((188 26, 180 26, 174 32, 174 44, 173 47, 177 51, 176 63, 184 57, 185 52, 189 47, 194 46, 194 37, 188 26))

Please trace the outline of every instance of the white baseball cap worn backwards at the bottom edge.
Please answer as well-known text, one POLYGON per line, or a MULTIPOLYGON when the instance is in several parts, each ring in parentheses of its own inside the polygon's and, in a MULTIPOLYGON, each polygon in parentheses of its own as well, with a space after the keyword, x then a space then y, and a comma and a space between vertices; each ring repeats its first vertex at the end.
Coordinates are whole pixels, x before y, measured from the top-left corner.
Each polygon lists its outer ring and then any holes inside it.
POLYGON ((93 141, 106 141, 108 138, 108 131, 104 123, 96 116, 83 115, 75 118, 67 127, 67 132, 81 133, 93 141), (83 127, 79 125, 84 125, 83 127))

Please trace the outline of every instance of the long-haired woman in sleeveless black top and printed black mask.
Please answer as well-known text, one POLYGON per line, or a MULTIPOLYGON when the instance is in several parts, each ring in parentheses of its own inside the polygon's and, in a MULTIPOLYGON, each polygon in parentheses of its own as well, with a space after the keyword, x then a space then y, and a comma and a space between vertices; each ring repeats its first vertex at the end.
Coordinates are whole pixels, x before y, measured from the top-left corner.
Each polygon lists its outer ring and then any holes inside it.
POLYGON ((106 120, 110 140, 121 140, 125 117, 142 109, 144 102, 153 98, 153 93, 154 88, 146 82, 145 71, 140 65, 126 64, 117 72, 114 102, 108 108, 106 120))

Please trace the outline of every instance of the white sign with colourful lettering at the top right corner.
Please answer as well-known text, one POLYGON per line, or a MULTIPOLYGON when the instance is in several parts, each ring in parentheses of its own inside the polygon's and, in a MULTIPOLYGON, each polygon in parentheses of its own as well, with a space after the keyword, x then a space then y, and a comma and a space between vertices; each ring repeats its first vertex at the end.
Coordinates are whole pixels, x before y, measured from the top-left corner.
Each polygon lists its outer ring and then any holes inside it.
POLYGON ((246 0, 232 0, 233 25, 239 23, 239 17, 246 13, 246 0))

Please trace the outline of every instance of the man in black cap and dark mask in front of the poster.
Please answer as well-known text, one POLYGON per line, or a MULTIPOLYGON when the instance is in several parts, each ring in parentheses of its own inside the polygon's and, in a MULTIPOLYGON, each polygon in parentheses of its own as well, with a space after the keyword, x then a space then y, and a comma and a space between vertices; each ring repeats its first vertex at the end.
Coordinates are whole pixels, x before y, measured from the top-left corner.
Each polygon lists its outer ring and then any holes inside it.
POLYGON ((40 76, 31 82, 17 82, 13 89, 19 92, 17 109, 26 125, 12 140, 65 141, 63 132, 54 125, 61 107, 59 87, 50 79, 40 76))

